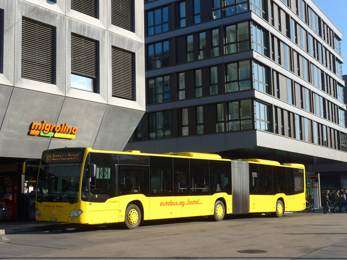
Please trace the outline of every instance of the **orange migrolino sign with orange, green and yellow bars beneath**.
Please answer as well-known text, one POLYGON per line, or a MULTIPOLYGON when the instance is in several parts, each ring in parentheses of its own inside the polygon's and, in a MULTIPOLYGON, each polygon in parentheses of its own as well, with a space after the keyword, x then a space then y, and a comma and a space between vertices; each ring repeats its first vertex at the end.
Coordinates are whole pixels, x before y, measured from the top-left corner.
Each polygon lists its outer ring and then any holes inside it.
POLYGON ((66 123, 61 125, 46 124, 45 120, 42 123, 33 122, 31 129, 29 134, 33 136, 40 135, 68 139, 74 139, 78 130, 77 127, 69 127, 66 123))

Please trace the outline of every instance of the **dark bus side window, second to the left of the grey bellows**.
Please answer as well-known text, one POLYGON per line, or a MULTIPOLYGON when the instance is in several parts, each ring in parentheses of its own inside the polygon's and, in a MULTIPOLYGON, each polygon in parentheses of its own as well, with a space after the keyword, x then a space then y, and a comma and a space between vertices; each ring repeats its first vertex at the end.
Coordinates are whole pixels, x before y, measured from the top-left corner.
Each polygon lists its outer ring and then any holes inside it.
POLYGON ((204 159, 189 159, 191 195, 210 194, 209 161, 204 159))

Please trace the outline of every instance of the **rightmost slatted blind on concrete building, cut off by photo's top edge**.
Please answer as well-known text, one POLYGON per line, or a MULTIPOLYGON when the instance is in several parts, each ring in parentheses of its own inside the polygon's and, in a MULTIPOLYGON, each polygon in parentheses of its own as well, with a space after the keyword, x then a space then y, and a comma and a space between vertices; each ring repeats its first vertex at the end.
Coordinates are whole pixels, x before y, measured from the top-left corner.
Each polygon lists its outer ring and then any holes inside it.
POLYGON ((111 0, 111 23, 133 31, 133 0, 111 0))

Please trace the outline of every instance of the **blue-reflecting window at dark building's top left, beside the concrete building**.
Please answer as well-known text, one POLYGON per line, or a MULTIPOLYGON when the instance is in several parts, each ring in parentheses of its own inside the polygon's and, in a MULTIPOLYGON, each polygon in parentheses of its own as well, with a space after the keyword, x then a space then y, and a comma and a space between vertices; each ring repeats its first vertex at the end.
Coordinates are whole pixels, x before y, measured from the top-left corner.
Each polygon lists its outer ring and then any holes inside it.
POLYGON ((147 35, 169 31, 168 10, 166 6, 147 12, 147 35))

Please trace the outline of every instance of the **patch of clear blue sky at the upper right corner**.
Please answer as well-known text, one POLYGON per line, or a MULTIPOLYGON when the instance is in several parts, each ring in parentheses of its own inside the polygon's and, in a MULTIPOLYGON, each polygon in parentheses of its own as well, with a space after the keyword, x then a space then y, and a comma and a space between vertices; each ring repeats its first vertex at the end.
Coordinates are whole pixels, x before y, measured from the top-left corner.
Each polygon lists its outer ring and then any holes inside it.
POLYGON ((347 74, 347 0, 313 0, 342 33, 341 55, 343 75, 347 74))

